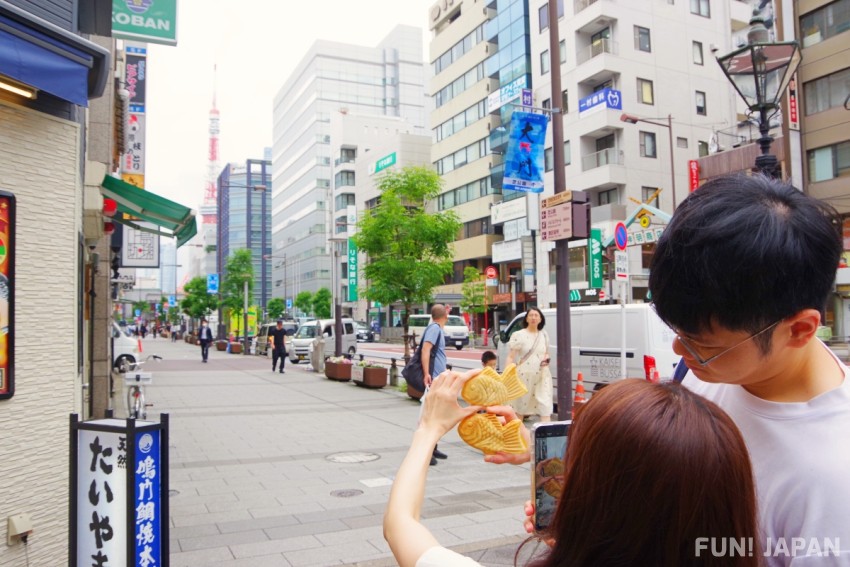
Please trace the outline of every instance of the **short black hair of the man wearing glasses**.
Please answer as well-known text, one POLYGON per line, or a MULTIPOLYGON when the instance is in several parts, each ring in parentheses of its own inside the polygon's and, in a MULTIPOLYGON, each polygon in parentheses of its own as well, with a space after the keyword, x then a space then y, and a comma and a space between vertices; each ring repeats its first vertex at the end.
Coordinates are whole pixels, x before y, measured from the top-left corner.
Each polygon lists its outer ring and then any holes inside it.
MULTIPOLYGON (((763 175, 723 176, 676 209, 649 289, 659 317, 678 331, 717 324, 755 333, 803 309, 823 312, 841 251, 830 205, 763 175)), ((757 339, 763 352, 771 336, 757 339)))

